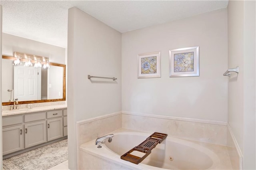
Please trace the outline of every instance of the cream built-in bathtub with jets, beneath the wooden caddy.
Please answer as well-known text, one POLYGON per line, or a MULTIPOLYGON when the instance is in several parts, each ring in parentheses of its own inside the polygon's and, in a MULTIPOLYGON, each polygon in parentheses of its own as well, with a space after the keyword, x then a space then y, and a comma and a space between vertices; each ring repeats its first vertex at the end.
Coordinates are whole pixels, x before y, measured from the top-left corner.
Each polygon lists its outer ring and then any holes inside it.
POLYGON ((112 142, 106 140, 102 143, 102 148, 97 148, 95 140, 86 142, 80 146, 80 169, 208 170, 230 168, 220 166, 220 156, 210 148, 200 145, 200 142, 172 136, 167 136, 138 165, 120 158, 152 133, 129 132, 128 130, 113 132, 112 142))

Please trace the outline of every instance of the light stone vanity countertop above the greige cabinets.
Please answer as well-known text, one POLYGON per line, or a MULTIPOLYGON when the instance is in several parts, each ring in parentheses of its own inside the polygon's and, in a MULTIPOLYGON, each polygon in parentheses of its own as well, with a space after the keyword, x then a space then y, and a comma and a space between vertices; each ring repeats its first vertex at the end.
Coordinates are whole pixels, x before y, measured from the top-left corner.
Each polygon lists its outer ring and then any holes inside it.
POLYGON ((33 113, 33 112, 40 112, 40 111, 50 111, 56 109, 66 109, 67 105, 52 105, 52 106, 43 106, 43 107, 33 107, 32 109, 18 109, 12 111, 2 111, 2 117, 10 116, 10 115, 19 115, 24 113, 33 113))

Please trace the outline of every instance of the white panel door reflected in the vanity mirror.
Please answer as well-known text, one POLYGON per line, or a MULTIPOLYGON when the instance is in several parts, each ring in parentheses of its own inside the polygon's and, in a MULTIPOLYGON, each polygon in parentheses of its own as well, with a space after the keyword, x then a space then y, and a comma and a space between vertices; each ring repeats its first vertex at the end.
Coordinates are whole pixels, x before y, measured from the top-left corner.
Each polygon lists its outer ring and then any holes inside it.
POLYGON ((14 66, 14 99, 41 100, 41 68, 14 66))

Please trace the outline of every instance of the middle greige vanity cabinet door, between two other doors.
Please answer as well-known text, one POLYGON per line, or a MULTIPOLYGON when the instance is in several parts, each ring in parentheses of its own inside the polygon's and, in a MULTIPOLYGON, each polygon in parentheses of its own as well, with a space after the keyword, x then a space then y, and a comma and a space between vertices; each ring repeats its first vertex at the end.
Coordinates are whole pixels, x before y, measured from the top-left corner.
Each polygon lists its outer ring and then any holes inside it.
POLYGON ((46 121, 24 125, 25 148, 46 142, 46 121))

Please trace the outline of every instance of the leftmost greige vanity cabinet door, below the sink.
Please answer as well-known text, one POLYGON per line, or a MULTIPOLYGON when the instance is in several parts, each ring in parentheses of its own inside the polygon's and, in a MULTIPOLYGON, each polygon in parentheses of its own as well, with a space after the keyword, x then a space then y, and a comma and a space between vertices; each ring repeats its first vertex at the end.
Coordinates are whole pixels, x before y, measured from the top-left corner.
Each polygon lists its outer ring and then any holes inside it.
POLYGON ((3 128, 3 155, 24 149, 23 126, 3 128))

